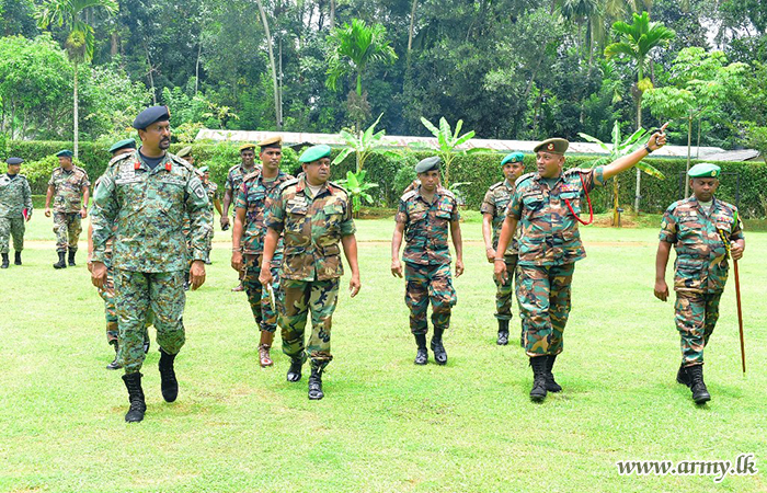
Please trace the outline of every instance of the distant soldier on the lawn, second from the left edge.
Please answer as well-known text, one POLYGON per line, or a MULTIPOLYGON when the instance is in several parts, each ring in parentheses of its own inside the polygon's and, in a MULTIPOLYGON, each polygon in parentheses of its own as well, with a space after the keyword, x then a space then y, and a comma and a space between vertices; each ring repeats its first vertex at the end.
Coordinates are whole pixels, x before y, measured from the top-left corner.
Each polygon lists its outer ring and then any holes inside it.
POLYGON ((77 243, 82 232, 81 220, 88 216, 88 198, 91 182, 88 173, 72 164, 72 151, 61 150, 56 153, 59 168, 54 170, 45 196, 45 217, 50 217, 50 198, 54 196, 54 232, 56 233, 56 252, 58 262, 54 268, 66 268, 65 254, 69 248, 69 266, 75 266, 77 243), (82 195, 81 195, 82 194, 82 195))

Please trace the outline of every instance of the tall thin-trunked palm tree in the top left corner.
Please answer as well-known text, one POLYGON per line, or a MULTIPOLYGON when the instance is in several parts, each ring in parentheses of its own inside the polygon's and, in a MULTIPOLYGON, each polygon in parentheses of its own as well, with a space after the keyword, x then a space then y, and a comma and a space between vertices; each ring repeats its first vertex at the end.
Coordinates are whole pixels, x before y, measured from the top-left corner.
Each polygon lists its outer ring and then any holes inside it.
POLYGON ((72 99, 75 108, 75 157, 78 157, 79 112, 78 112, 78 68, 80 64, 90 62, 93 59, 93 27, 81 19, 84 11, 90 9, 103 9, 108 15, 114 15, 118 5, 115 0, 46 0, 35 13, 37 25, 47 28, 49 25, 65 26, 69 34, 64 47, 69 60, 75 65, 75 89, 72 99))

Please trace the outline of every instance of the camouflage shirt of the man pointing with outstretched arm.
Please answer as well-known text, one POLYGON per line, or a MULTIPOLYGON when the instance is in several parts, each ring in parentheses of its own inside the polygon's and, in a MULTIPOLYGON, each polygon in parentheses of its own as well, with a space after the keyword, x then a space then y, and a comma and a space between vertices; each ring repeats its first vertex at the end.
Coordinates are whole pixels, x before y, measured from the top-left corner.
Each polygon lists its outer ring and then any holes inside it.
POLYGON ((518 265, 564 265, 586 256, 568 202, 580 214, 584 194, 605 184, 603 171, 603 167, 564 171, 551 188, 537 173, 517 179, 506 214, 519 221, 518 265))

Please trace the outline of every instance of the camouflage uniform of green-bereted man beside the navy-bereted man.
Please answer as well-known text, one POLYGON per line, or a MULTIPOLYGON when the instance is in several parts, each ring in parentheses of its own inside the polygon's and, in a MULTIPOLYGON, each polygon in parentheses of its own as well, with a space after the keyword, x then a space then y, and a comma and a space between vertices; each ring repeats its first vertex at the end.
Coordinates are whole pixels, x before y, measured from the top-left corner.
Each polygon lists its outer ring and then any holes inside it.
POLYGON ((283 183, 266 213, 266 226, 283 233, 284 259, 279 270, 278 300, 283 352, 306 359, 304 330, 311 310, 311 336, 306 352, 312 368, 333 359, 330 333, 339 295, 342 237, 354 234, 348 194, 327 182, 314 197, 306 177, 283 183))

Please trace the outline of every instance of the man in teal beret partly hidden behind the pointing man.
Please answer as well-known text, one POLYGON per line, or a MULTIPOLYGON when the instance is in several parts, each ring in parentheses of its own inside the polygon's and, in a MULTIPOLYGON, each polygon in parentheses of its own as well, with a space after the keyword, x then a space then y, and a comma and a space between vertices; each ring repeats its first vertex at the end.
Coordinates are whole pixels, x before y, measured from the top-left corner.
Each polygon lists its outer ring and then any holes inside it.
MULTIPOLYGON (((501 161, 503 167, 504 181, 491 185, 488 193, 484 194, 480 211, 482 213, 482 238, 484 239, 484 253, 488 256, 488 262, 491 264, 495 261, 495 249, 499 244, 499 236, 501 234, 501 226, 506 217, 506 206, 514 193, 514 182, 525 171, 523 159, 525 154, 522 152, 512 152, 501 161)), ((501 255, 497 255, 501 256, 501 255)), ((517 242, 512 240, 508 249, 503 254, 506 262, 506 272, 513 273, 517 265, 517 242)), ((499 321, 499 335, 496 343, 500 346, 508 344, 508 322, 512 320, 512 276, 508 276, 505 283, 495 282, 495 318, 499 321)))

